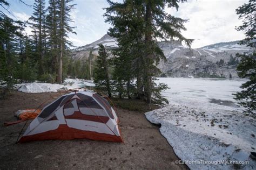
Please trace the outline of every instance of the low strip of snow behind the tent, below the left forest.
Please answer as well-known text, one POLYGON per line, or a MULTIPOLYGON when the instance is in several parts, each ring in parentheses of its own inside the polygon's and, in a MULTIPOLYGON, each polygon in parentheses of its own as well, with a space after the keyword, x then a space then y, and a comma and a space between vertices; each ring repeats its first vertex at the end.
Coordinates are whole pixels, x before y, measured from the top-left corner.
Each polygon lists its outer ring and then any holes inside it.
POLYGON ((21 83, 15 84, 14 88, 24 93, 46 93, 46 92, 57 92, 60 89, 77 89, 94 87, 92 81, 86 81, 83 79, 65 79, 64 84, 51 84, 51 83, 21 83))

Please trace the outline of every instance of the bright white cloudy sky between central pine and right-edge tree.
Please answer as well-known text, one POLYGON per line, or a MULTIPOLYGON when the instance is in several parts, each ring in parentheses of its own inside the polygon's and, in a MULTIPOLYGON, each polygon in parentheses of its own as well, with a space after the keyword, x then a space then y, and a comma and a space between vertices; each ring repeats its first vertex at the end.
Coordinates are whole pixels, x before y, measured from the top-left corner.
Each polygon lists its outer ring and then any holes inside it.
POLYGON ((198 48, 217 42, 243 39, 244 33, 235 30, 241 25, 235 9, 246 0, 188 0, 176 9, 166 9, 171 15, 189 19, 183 31, 186 38, 196 39, 192 47, 198 48))

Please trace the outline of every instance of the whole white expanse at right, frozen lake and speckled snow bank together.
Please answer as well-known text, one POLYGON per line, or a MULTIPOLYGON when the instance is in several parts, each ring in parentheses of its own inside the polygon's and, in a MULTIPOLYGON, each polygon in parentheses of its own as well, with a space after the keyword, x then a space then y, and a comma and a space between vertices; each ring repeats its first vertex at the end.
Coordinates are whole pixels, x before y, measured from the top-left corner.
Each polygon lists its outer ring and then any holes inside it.
POLYGON ((170 104, 146 112, 146 118, 161 124, 161 134, 188 167, 256 168, 250 158, 256 151, 256 121, 242 114, 232 95, 245 80, 158 79, 171 88, 163 92, 170 104))

